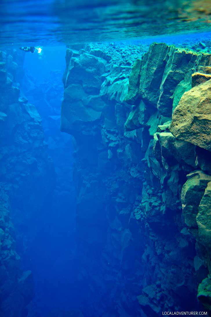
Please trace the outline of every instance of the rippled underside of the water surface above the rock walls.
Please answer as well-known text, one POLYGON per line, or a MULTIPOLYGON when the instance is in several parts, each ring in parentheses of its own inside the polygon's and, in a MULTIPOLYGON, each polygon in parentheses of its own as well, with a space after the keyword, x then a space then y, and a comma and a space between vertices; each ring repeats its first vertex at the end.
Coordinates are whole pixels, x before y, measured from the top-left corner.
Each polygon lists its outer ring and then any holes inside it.
POLYGON ((211 30, 209 0, 3 0, 0 42, 58 45, 211 30))

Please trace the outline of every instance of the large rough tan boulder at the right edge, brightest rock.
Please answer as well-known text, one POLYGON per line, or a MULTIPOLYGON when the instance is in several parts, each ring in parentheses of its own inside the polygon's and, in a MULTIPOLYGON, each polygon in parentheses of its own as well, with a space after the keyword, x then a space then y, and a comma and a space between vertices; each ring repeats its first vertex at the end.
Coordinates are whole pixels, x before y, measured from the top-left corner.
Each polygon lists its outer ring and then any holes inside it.
POLYGON ((171 133, 211 151, 211 80, 185 92, 175 108, 170 125, 171 133))

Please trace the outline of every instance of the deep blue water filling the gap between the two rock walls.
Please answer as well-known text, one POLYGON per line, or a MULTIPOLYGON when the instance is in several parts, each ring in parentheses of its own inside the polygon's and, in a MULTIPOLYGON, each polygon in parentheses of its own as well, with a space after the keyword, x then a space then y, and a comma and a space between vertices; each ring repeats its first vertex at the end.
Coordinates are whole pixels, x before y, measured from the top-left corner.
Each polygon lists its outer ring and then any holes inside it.
POLYGON ((53 203, 43 205, 39 236, 25 254, 25 266, 34 272, 39 314, 78 307, 74 293, 75 189, 72 179, 73 145, 60 132, 60 107, 64 88, 65 47, 44 47, 42 54, 26 54, 22 94, 42 117, 48 154, 56 171, 53 203), (48 215, 48 216, 47 216, 48 215), (51 308, 50 308, 51 307, 51 308))

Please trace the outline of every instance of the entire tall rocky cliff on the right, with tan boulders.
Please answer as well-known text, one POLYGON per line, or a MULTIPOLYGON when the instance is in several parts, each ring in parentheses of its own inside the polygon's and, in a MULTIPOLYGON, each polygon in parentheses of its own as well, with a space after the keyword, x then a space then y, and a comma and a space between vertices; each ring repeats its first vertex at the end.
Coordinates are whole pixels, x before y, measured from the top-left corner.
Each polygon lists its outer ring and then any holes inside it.
POLYGON ((132 61, 114 46, 66 53, 61 130, 75 139, 82 308, 209 310, 211 55, 128 51, 132 61))

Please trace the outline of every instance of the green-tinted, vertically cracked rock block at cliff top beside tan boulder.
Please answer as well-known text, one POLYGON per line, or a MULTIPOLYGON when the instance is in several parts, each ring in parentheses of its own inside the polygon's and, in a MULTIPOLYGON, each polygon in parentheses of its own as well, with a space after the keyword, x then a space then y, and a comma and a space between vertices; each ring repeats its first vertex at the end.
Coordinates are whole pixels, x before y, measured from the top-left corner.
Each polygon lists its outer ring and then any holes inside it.
POLYGON ((171 118, 173 104, 175 107, 191 87, 196 59, 196 53, 174 46, 151 45, 149 52, 133 66, 125 100, 136 104, 141 97, 151 107, 158 108, 161 115, 171 118))

